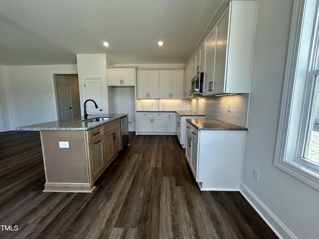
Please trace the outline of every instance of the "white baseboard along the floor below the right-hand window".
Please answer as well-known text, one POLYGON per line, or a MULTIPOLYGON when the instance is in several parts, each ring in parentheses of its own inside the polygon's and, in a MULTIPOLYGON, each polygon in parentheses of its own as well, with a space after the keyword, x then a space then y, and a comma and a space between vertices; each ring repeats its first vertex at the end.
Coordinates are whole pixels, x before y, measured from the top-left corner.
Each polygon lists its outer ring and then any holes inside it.
POLYGON ((297 237, 246 187, 240 184, 240 193, 255 209, 280 239, 297 239, 297 237))

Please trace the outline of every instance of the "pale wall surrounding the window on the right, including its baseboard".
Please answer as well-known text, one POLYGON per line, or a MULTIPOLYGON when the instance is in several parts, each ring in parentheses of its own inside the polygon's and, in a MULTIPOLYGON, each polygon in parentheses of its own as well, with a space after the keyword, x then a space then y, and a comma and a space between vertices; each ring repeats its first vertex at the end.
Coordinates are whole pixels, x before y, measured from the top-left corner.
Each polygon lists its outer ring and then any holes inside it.
POLYGON ((292 7, 259 0, 241 191, 283 238, 318 239, 319 191, 274 166, 292 7))

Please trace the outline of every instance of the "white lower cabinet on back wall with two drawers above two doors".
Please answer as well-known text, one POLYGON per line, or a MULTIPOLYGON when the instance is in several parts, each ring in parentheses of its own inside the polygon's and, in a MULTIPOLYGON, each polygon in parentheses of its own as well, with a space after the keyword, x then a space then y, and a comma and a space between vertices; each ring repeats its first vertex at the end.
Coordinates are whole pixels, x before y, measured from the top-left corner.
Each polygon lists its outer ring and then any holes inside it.
POLYGON ((166 132, 166 115, 164 112, 140 112, 138 113, 139 132, 166 132))

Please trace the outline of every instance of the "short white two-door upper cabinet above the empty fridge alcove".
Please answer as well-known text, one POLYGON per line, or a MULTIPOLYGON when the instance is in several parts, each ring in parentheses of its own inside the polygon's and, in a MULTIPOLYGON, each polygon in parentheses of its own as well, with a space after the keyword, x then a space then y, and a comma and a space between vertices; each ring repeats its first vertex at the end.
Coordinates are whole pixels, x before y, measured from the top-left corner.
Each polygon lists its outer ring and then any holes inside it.
POLYGON ((136 68, 108 67, 108 86, 135 86, 136 68))

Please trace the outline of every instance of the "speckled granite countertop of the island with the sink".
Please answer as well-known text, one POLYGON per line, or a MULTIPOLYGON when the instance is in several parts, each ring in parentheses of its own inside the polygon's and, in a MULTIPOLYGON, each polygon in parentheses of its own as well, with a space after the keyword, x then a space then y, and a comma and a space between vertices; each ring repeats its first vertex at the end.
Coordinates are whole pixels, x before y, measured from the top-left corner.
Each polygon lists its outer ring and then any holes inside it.
POLYGON ((73 119, 65 119, 65 120, 56 120, 45 123, 37 123, 27 126, 16 127, 18 130, 89 130, 100 126, 102 124, 114 121, 116 119, 121 119, 126 117, 128 114, 97 114, 90 115, 88 119, 101 117, 101 118, 110 118, 103 121, 97 122, 83 122, 84 117, 76 117, 73 119))

